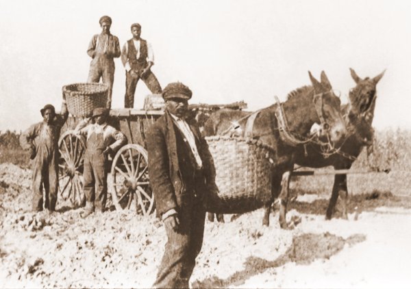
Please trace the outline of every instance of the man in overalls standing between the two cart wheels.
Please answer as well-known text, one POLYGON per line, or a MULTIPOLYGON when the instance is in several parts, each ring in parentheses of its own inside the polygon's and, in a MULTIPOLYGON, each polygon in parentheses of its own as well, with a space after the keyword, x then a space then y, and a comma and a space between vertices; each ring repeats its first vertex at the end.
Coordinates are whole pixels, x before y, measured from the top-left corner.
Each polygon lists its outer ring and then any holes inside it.
POLYGON ((95 211, 95 207, 104 211, 107 199, 107 158, 127 141, 123 133, 107 124, 108 109, 97 108, 92 112, 94 124, 90 119, 80 122, 75 132, 85 135, 86 152, 84 153, 84 194, 86 208, 81 217, 85 218, 95 211))

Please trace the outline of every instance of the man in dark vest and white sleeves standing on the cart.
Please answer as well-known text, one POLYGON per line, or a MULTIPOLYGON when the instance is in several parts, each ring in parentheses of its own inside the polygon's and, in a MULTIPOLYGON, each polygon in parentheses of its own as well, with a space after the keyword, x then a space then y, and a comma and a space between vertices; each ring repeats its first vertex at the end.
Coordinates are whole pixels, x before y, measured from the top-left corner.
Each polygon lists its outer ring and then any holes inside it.
POLYGON ((160 94, 161 86, 150 68, 154 65, 154 54, 151 44, 140 38, 141 26, 132 24, 133 38, 125 42, 121 51, 121 61, 125 68, 124 107, 134 107, 134 94, 138 80, 147 85, 152 94, 160 94))

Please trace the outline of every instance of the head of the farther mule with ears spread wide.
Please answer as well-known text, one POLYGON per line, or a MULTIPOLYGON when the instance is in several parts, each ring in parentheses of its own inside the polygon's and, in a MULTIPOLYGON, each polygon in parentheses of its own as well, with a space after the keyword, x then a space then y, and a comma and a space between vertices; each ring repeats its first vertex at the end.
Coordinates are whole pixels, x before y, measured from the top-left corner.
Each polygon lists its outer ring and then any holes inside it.
POLYGON ((373 79, 366 77, 361 79, 357 73, 350 68, 351 77, 356 81, 356 87, 349 91, 349 102, 351 104, 349 113, 360 118, 373 118, 375 98, 377 98, 377 83, 384 76, 385 70, 373 79))

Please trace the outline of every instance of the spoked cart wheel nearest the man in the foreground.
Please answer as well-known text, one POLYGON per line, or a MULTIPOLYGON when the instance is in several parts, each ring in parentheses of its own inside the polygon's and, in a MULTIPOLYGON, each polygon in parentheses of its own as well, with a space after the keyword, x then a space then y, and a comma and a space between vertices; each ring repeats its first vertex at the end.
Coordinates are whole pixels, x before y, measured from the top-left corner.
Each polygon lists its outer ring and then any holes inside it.
POLYGON ((111 169, 111 195, 116 210, 134 207, 142 215, 153 212, 154 196, 149 185, 147 167, 147 151, 138 144, 127 144, 116 153, 111 169))

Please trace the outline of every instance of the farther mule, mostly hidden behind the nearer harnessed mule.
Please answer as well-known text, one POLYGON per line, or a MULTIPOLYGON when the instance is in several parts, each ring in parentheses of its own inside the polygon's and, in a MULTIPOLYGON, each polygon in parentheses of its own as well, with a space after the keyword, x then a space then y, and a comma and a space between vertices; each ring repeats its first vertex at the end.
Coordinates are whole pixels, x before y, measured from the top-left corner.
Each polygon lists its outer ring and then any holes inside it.
MULTIPOLYGON (((369 77, 361 79, 352 68, 350 68, 350 71, 351 77, 356 82, 356 87, 349 91, 349 104, 341 107, 345 125, 349 130, 347 139, 343 141, 340 149, 331 156, 321 154, 319 147, 314 143, 308 144, 306 150, 297 148, 295 154, 295 163, 297 165, 314 168, 333 166, 334 169, 349 169, 362 149, 373 143, 372 122, 377 98, 376 86, 384 76, 385 70, 372 79, 369 77)), ((326 84, 323 83, 323 85, 326 84)), ((348 191, 346 174, 336 174, 334 176, 334 185, 325 219, 332 219, 338 196, 342 201, 343 219, 347 219, 348 191)))

